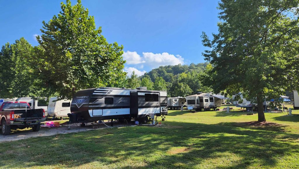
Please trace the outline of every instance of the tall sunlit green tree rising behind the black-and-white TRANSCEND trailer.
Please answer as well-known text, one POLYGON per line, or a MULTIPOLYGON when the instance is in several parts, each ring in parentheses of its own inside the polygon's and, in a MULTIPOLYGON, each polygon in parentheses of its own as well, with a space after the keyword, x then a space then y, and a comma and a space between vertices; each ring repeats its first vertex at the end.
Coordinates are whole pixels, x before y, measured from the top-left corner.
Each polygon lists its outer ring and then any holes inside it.
POLYGON ((126 76, 121 71, 123 46, 106 41, 80 0, 74 6, 70 0, 61 3, 61 10, 42 22, 42 35, 37 37, 40 45, 32 62, 40 86, 48 95, 69 99, 80 89, 114 86, 116 79, 126 76))

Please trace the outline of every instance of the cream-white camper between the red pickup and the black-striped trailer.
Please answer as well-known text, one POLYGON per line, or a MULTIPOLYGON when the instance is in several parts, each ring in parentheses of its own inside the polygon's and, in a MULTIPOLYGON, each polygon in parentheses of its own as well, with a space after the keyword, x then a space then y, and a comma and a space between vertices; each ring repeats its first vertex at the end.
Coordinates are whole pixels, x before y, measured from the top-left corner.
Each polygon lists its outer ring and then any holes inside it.
POLYGON ((59 100, 57 97, 52 97, 48 104, 48 115, 55 117, 67 117, 71 113, 71 100, 59 100))

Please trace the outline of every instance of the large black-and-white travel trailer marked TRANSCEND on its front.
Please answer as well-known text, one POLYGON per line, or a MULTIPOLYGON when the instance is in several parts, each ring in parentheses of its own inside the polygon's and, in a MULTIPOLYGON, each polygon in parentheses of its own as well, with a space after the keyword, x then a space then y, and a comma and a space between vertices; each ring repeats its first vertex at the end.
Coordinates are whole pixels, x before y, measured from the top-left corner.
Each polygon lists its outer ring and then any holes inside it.
POLYGON ((167 92, 146 88, 100 87, 78 91, 71 102, 71 122, 127 119, 147 122, 152 114, 167 115, 167 92))

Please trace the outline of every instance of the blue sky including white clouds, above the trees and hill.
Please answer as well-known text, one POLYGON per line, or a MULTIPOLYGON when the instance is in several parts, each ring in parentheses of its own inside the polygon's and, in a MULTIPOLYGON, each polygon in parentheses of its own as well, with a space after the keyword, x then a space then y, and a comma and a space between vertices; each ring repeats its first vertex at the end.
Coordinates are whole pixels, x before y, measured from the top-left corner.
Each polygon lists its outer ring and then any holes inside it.
MULTIPOLYGON (((59 13, 61 0, 0 3, 0 45, 24 37, 38 45, 42 21, 59 13)), ((65 1, 63 1, 65 2, 65 1)), ((77 1, 72 1, 72 4, 77 1)), ((217 32, 217 0, 83 0, 109 43, 124 46, 125 71, 138 75, 161 65, 205 62, 200 35, 217 32)))

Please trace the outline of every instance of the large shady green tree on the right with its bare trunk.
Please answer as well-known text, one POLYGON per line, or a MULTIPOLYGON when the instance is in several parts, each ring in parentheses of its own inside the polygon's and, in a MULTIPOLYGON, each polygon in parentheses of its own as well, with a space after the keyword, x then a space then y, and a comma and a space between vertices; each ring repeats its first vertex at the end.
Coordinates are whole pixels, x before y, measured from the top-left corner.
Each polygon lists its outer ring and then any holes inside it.
MULTIPOLYGON (((298 69, 298 0, 222 0, 219 33, 203 33, 203 55, 213 64, 206 78, 214 92, 240 91, 258 104, 258 121, 266 121, 265 99, 279 98, 298 69)), ((292 82, 294 83, 294 81, 292 82)), ((296 82, 298 84, 298 81, 296 82)))

